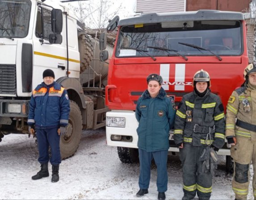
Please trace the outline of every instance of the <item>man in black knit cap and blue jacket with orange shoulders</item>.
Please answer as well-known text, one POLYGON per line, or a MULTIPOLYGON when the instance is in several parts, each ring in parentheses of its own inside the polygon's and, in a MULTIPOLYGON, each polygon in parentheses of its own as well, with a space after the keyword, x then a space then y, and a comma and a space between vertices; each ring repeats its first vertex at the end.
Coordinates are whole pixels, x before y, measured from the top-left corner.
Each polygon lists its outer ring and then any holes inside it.
POLYGON ((35 134, 38 140, 41 170, 33 180, 49 176, 48 162, 52 165, 51 182, 59 181, 59 164, 61 156, 59 150, 60 135, 66 133, 70 112, 67 91, 54 81, 54 72, 47 69, 43 72, 43 82, 39 84, 29 102, 28 125, 29 132, 35 134), (51 157, 49 158, 49 146, 51 157))

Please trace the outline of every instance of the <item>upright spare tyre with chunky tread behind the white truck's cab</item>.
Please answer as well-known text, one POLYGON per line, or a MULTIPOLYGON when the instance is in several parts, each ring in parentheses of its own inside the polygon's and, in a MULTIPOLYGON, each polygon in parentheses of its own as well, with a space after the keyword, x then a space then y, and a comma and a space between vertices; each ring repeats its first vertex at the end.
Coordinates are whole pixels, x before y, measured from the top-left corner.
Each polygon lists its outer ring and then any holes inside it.
POLYGON ((93 46, 90 37, 85 34, 78 36, 78 47, 80 52, 80 74, 89 67, 93 57, 93 46))

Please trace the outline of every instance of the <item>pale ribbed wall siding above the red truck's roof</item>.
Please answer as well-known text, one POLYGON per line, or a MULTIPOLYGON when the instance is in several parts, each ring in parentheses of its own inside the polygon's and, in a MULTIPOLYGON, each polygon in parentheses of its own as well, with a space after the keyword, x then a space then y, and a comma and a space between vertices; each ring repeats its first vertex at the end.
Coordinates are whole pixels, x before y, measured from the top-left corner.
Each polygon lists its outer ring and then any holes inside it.
POLYGON ((136 12, 185 11, 185 0, 137 0, 136 12))

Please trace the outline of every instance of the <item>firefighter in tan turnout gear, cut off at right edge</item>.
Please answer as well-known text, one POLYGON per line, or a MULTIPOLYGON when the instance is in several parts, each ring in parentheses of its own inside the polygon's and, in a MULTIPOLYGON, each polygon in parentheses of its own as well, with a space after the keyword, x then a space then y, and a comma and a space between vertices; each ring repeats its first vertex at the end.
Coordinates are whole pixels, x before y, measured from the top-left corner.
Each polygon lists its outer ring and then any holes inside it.
POLYGON ((251 163, 256 199, 256 66, 249 64, 243 75, 245 81, 231 94, 226 113, 226 138, 235 163, 232 189, 239 200, 247 199, 251 163))

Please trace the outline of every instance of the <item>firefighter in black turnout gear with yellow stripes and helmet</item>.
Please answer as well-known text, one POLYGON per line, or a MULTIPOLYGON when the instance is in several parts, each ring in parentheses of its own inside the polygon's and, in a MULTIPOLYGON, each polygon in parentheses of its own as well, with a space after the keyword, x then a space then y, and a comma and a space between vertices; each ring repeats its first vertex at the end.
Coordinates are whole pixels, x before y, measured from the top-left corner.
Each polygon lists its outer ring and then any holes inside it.
POLYGON ((183 96, 176 112, 174 142, 180 148, 183 172, 182 200, 209 200, 212 176, 217 167, 216 151, 225 139, 224 108, 219 96, 210 92, 210 76, 197 71, 194 91, 183 96))

